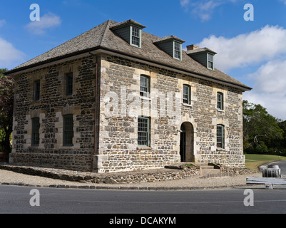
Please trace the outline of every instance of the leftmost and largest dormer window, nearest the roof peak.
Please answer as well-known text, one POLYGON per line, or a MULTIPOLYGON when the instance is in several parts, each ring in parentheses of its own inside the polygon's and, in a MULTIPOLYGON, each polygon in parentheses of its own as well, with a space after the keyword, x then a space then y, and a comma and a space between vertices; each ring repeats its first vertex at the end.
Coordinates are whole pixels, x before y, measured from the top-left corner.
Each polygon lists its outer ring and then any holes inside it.
POLYGON ((115 31, 131 46, 141 48, 143 28, 145 28, 145 26, 137 23, 136 21, 128 20, 111 27, 111 30, 115 31))

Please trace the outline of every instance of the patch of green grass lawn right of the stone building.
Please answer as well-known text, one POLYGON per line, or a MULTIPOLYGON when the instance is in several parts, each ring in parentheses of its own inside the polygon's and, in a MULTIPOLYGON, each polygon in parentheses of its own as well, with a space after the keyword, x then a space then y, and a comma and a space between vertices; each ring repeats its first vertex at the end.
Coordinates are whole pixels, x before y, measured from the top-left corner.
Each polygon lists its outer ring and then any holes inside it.
POLYGON ((277 155, 247 155, 245 154, 245 167, 250 170, 257 170, 257 167, 267 162, 286 160, 286 157, 277 155))

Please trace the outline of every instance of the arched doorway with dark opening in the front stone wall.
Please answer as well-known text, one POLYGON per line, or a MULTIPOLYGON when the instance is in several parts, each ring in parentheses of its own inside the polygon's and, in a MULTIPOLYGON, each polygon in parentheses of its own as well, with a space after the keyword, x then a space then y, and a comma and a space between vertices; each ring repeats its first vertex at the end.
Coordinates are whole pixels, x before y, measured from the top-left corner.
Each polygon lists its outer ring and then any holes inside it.
POLYGON ((194 162, 194 130, 193 125, 189 122, 184 122, 180 126, 180 161, 194 162))

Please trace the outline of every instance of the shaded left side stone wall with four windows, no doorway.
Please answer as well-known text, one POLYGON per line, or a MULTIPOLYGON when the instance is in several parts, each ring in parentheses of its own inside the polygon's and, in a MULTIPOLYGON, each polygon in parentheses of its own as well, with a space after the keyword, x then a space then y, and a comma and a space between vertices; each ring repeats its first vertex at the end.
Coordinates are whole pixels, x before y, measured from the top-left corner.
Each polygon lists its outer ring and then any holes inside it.
POLYGON ((13 150, 10 162, 91 170, 94 150, 95 69, 93 57, 58 63, 16 76, 13 150), (73 94, 66 95, 66 73, 73 94), (41 81, 34 101, 34 82, 41 81), (73 146, 63 146, 63 115, 73 115, 73 146), (31 145, 31 119, 40 119, 39 146, 31 145))

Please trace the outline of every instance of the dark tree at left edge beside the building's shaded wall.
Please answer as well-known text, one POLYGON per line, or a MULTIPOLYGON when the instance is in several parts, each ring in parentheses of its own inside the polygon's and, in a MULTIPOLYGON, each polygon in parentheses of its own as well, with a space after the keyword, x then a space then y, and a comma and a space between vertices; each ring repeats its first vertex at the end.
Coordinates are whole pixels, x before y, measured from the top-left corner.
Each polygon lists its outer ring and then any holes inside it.
POLYGON ((11 152, 10 136, 13 132, 14 78, 5 76, 7 69, 0 69, 0 129, 4 130, 0 143, 2 149, 11 152))

